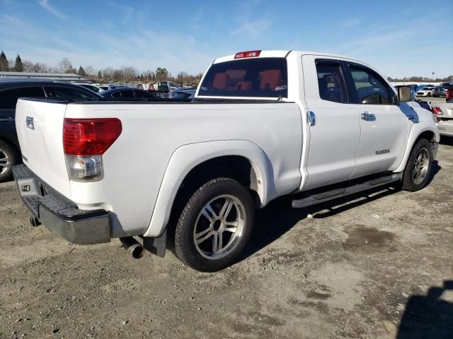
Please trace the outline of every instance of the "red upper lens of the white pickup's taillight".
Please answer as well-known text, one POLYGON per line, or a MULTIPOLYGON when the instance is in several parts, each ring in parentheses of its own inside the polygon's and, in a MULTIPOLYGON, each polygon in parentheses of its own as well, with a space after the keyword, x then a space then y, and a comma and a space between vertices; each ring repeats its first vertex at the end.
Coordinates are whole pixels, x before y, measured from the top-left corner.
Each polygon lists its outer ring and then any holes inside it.
POLYGON ((66 155, 103 155, 122 131, 116 118, 64 119, 63 148, 66 155))

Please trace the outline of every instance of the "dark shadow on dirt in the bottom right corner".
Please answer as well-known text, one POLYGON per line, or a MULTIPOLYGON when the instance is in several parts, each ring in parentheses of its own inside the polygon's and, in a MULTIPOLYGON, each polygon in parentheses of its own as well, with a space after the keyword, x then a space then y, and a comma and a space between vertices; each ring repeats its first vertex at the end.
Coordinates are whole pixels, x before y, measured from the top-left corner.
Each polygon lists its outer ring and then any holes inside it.
POLYGON ((448 290, 453 290, 453 280, 445 280, 442 287, 430 287, 427 295, 411 296, 396 339, 453 338, 453 303, 442 299, 448 290))

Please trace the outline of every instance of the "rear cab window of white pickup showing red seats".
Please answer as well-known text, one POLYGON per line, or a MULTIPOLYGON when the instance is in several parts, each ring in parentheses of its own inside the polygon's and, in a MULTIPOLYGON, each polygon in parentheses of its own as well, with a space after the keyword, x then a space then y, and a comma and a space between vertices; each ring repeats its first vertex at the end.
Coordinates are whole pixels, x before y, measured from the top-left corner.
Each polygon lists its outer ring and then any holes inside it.
POLYGON ((199 96, 287 97, 285 58, 240 59, 213 64, 199 96))

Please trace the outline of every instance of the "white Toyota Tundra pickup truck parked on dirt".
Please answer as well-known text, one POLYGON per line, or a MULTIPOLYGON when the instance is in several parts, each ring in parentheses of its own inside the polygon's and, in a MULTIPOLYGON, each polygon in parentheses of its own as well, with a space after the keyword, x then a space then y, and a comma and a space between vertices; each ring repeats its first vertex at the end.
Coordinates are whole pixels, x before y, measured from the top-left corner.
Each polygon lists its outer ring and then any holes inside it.
POLYGON ((279 196, 303 192, 301 208, 392 182, 422 189, 440 137, 408 100, 357 59, 240 52, 212 62, 194 102, 18 100, 13 172, 33 223, 69 242, 141 236, 214 271, 279 196))

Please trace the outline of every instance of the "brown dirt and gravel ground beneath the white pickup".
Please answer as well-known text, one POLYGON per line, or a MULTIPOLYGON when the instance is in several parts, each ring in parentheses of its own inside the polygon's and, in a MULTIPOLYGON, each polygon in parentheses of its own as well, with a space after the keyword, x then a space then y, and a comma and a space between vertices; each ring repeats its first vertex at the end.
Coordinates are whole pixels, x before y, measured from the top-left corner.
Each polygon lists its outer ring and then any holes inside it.
POLYGON ((0 338, 453 338, 453 139, 433 174, 309 210, 281 198, 218 273, 68 244, 0 184, 0 338))

